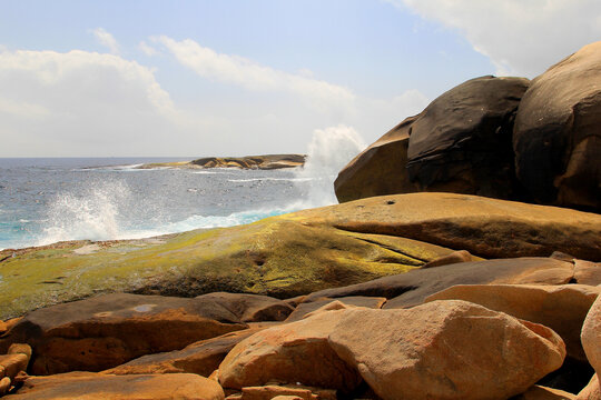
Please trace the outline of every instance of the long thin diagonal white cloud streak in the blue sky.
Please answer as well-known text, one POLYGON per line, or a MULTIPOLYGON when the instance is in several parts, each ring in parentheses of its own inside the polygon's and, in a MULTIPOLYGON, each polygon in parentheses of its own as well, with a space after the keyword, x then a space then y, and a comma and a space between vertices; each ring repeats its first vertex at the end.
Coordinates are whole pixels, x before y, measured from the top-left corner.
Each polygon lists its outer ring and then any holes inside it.
POLYGON ((161 36, 154 40, 164 44, 181 64, 207 79, 237 84, 252 91, 289 92, 329 103, 339 104, 355 98, 349 89, 307 77, 306 71, 279 71, 244 57, 218 53, 190 39, 178 42, 161 36))

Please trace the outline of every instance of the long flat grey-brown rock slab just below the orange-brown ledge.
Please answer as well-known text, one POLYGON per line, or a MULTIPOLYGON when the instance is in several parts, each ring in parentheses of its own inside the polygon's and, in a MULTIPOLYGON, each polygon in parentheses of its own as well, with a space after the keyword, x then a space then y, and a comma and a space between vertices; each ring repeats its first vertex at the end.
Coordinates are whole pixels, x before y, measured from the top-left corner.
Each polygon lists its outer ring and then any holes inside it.
POLYGON ((564 284, 573 278, 573 264, 549 258, 519 258, 462 262, 375 279, 370 282, 314 292, 319 298, 372 296, 388 299, 384 308, 403 308, 424 302, 427 296, 456 284, 536 283, 564 284))

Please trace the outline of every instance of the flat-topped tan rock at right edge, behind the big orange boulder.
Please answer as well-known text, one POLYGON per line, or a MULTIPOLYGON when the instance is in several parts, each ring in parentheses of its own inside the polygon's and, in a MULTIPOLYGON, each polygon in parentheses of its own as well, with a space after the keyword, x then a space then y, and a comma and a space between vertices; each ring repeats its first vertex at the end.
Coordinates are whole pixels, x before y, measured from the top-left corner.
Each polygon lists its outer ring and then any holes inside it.
POLYGON ((563 339, 569 357, 587 361, 580 331, 599 293, 601 287, 584 284, 459 284, 425 301, 464 300, 543 324, 563 339))

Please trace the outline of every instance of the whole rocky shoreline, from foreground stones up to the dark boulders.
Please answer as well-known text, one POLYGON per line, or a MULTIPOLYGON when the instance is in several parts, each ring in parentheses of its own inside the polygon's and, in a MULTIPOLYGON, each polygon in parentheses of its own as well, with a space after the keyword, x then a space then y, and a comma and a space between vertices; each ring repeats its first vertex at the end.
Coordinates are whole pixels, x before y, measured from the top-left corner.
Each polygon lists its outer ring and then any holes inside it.
POLYGON ((341 171, 342 204, 1 251, 0 396, 600 400, 597 69, 601 42, 453 89, 341 171))

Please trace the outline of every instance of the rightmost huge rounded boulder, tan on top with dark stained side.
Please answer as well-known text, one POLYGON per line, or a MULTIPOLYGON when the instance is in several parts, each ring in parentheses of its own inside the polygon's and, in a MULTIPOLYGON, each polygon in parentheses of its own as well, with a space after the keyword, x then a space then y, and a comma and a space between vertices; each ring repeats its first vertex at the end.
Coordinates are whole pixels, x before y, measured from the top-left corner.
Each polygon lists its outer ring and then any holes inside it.
POLYGON ((601 42, 535 78, 513 134, 516 173, 543 203, 601 210, 601 42))

